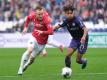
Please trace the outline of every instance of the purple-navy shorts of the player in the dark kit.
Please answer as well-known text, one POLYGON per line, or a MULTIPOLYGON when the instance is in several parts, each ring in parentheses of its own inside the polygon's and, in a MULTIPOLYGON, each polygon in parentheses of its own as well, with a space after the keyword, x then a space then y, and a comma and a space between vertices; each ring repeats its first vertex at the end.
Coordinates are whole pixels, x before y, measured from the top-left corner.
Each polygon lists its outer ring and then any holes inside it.
POLYGON ((81 44, 80 40, 72 39, 69 48, 77 49, 78 53, 84 54, 87 50, 87 46, 88 46, 88 40, 84 44, 81 44))

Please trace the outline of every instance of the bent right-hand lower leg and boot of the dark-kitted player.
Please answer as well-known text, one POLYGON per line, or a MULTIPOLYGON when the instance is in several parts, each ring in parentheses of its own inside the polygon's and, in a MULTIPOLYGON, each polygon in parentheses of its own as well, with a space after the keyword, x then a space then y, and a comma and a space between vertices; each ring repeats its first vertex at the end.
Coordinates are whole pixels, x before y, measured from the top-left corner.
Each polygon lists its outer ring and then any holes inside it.
POLYGON ((77 53, 77 58, 76 58, 76 62, 78 64, 82 64, 82 69, 85 69, 87 66, 87 59, 83 59, 82 58, 83 54, 77 53))

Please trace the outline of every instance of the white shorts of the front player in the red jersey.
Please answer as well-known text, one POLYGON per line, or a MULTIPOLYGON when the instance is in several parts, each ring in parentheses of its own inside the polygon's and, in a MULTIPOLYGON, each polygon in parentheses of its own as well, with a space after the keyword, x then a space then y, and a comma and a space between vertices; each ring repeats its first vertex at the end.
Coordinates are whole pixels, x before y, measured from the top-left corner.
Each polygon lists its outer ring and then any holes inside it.
POLYGON ((41 51, 45 48, 45 45, 38 44, 36 38, 33 36, 28 41, 28 47, 33 47, 34 50, 32 52, 32 57, 35 57, 36 55, 39 55, 41 51))

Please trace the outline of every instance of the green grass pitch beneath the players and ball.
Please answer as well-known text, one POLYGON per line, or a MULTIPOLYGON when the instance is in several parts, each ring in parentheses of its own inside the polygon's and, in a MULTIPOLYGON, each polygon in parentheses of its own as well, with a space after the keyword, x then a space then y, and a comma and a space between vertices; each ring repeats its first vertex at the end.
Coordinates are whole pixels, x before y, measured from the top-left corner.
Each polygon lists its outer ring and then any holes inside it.
POLYGON ((77 64, 76 53, 72 58, 72 76, 64 79, 61 69, 64 67, 64 53, 56 48, 49 48, 48 56, 38 56, 23 74, 18 76, 17 71, 22 53, 25 49, 0 49, 0 80, 107 80, 107 49, 89 48, 84 57, 88 58, 88 66, 82 70, 77 64))

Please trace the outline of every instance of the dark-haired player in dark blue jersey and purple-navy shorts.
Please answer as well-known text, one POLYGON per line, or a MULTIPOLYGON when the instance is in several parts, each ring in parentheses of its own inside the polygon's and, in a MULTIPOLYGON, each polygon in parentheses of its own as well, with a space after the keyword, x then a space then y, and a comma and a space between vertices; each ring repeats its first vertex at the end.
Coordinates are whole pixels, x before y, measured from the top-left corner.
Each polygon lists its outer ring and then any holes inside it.
POLYGON ((80 17, 74 15, 74 8, 72 6, 64 6, 64 13, 66 19, 62 24, 54 27, 54 30, 60 27, 66 27, 72 36, 72 40, 67 49, 67 55, 65 57, 66 67, 71 67, 71 56, 77 50, 76 62, 82 64, 81 68, 84 69, 87 65, 87 59, 83 59, 83 55, 87 50, 88 45, 88 29, 83 24, 80 17))

